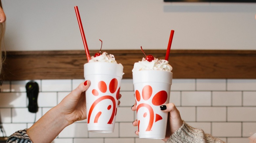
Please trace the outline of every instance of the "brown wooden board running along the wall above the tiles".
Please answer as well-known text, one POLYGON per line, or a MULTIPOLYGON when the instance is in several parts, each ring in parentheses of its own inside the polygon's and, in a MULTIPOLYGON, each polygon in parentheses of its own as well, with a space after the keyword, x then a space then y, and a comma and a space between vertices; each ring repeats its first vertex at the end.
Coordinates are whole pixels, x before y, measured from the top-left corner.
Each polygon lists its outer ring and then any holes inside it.
MULTIPOLYGON (((90 53, 98 51, 92 50, 90 53)), ((141 50, 107 50, 124 66, 124 79, 132 78, 134 62, 141 50)), ((165 50, 145 50, 164 59, 165 50)), ((7 52, 3 80, 83 79, 85 51, 7 52)), ((169 63, 173 78, 256 79, 256 50, 171 50, 169 63)))

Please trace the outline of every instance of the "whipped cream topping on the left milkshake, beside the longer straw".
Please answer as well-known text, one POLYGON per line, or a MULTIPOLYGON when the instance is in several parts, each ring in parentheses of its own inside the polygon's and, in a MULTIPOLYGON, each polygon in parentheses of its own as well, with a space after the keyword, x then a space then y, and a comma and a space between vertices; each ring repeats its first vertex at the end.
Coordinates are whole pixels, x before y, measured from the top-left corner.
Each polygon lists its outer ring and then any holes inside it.
POLYGON ((117 63, 115 56, 112 54, 108 54, 107 52, 103 52, 100 56, 92 56, 89 60, 89 63, 91 62, 117 63))

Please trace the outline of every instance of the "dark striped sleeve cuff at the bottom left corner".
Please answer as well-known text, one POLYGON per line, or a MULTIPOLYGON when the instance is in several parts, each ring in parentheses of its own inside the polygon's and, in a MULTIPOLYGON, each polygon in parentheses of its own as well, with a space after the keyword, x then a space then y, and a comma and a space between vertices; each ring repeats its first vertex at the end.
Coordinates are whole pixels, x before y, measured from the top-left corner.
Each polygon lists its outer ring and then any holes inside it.
POLYGON ((28 129, 19 130, 13 133, 7 140, 7 143, 32 143, 29 135, 27 134, 28 129))

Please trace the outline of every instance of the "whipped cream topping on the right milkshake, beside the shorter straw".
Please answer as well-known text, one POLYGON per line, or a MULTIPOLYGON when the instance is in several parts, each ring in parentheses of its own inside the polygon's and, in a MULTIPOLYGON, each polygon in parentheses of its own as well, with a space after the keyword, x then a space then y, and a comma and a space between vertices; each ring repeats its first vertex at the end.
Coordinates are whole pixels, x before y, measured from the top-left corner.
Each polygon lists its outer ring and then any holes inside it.
POLYGON ((132 72, 142 70, 172 71, 172 66, 168 64, 167 60, 154 58, 149 62, 143 57, 142 61, 134 63, 132 72))

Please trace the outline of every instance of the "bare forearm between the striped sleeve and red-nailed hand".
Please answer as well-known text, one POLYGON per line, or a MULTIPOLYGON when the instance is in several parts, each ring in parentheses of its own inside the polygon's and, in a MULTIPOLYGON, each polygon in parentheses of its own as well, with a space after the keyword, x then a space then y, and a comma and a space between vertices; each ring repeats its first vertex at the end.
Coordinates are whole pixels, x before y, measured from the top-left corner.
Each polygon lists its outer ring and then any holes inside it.
POLYGON ((58 106, 49 110, 27 130, 33 143, 50 143, 70 123, 58 106))

